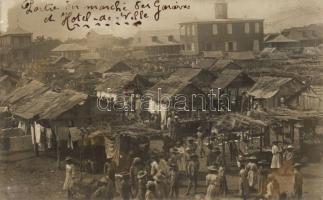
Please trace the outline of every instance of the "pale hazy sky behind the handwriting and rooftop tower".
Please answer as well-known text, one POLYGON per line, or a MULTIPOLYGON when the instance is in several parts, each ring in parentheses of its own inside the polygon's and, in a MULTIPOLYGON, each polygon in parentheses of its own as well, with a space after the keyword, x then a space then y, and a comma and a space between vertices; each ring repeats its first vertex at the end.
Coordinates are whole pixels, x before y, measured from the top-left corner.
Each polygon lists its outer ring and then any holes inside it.
MULTIPOLYGON (((41 21, 42 13, 26 16, 20 8, 25 0, 0 0, 1 30, 6 31, 8 26, 15 27, 17 23, 22 28, 31 31, 35 36, 46 35, 54 38, 82 38, 88 30, 67 31, 60 24, 45 25, 41 21), (9 16, 8 16, 9 15, 9 16)), ((28 0, 27 0, 28 1, 28 0)), ((52 2, 65 5, 66 0, 34 0, 35 3, 52 2)), ((70 0, 79 4, 84 2, 113 3, 112 0, 70 0)), ((135 0, 123 0, 134 4, 135 0)), ((144 1, 144 0, 143 0, 144 1)), ((154 0, 146 0, 153 2, 154 0)), ((134 35, 139 29, 175 29, 178 23, 189 20, 214 19, 215 0, 160 0, 162 4, 169 2, 190 4, 187 11, 162 13, 158 22, 146 21, 139 28, 133 26, 110 26, 96 29, 99 33, 110 33, 120 37, 134 35)), ((226 0, 229 5, 228 15, 232 18, 260 18, 265 20, 265 32, 279 32, 292 26, 304 26, 313 23, 323 23, 323 0, 226 0)))

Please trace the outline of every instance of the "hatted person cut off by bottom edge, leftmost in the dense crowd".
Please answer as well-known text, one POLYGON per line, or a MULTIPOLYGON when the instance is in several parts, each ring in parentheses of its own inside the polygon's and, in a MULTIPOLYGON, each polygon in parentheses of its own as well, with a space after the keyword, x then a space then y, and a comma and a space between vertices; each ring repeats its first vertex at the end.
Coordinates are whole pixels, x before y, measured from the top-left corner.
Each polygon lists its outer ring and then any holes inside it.
POLYGON ((93 200, 112 200, 115 192, 115 187, 109 177, 102 177, 99 181, 99 188, 91 195, 93 200))

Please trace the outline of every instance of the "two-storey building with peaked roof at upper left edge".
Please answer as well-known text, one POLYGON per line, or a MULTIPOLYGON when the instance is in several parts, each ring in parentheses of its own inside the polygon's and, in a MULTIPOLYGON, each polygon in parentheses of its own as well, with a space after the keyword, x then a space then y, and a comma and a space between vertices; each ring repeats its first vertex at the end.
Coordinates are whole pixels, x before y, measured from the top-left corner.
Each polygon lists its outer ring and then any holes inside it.
POLYGON ((4 63, 30 62, 32 33, 16 27, 0 35, 0 60, 4 63))

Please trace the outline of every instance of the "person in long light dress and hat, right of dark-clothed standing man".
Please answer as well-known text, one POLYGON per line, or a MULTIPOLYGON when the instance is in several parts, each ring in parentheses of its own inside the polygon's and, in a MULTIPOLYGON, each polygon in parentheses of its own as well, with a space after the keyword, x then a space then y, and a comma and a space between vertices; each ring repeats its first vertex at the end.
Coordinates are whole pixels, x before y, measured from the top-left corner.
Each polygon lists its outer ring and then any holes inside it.
POLYGON ((209 174, 206 175, 206 195, 205 200, 214 200, 218 194, 218 182, 217 168, 215 166, 208 167, 209 174))

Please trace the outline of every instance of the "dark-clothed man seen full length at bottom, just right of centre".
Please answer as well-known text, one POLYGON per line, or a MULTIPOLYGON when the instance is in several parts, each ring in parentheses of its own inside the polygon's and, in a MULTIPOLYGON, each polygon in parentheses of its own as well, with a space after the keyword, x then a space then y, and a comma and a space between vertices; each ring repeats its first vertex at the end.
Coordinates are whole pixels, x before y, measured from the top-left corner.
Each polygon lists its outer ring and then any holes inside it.
POLYGON ((200 163, 198 160, 198 155, 193 153, 190 155, 189 162, 186 169, 186 175, 188 178, 186 195, 190 194, 192 187, 193 187, 194 194, 196 193, 199 168, 200 168, 200 163))

